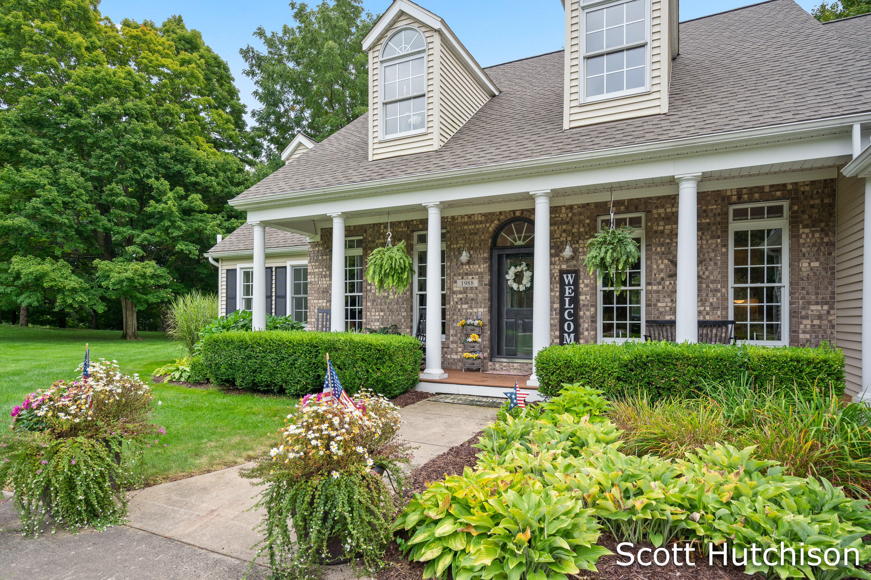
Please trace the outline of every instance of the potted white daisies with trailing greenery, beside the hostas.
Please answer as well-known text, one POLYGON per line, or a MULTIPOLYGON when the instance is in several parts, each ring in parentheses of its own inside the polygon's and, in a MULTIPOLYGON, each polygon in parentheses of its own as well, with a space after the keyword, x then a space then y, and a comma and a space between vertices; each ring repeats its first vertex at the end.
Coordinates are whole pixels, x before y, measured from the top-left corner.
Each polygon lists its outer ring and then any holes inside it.
POLYGON ((352 401, 347 407, 320 393, 303 397, 279 430, 279 444, 241 473, 267 486, 255 508, 266 514, 262 550, 274 577, 320 577, 323 560, 353 562, 357 555, 370 575, 381 567, 402 498, 400 464, 409 463, 411 448, 397 440, 402 418, 395 404, 370 390, 352 401), (388 470, 395 496, 376 467, 388 470))

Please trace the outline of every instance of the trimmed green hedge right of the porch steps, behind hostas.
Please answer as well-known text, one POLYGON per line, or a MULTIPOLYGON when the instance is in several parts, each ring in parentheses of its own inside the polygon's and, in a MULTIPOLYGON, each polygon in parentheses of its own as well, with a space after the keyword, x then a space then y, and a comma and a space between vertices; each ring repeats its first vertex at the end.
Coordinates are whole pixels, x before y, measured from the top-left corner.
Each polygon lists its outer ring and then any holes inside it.
POLYGON ((844 392, 844 356, 818 348, 724 344, 591 343, 553 345, 536 357, 539 392, 553 397, 562 383, 583 383, 611 396, 644 390, 656 400, 692 397, 703 380, 723 383, 743 373, 756 384, 809 391, 814 384, 844 392))

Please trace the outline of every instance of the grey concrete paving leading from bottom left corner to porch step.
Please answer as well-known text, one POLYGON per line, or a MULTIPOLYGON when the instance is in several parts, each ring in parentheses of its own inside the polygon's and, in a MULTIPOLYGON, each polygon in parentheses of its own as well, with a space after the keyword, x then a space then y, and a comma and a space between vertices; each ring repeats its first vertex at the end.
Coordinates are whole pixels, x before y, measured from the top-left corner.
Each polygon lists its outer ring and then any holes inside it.
MULTIPOLYGON (((400 436, 415 446, 419 466, 463 443, 496 417, 496 410, 422 401, 402 410, 400 436)), ((238 466, 133 492, 130 523, 103 533, 57 532, 21 537, 11 502, 0 505, 0 579, 238 580, 260 541, 260 513, 246 511, 260 487, 238 466)), ((252 580, 265 569, 254 564, 252 580)), ((326 580, 348 580, 348 565, 327 567, 326 580)))

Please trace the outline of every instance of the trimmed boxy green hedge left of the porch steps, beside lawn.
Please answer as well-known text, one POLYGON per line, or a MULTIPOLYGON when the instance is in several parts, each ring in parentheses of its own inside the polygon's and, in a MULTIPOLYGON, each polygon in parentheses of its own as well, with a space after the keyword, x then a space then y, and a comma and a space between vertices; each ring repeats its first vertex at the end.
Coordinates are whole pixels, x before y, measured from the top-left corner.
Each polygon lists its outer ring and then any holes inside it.
POLYGON ((201 360, 213 383, 300 396, 323 389, 327 352, 348 392, 368 388, 396 397, 417 384, 421 343, 402 335, 221 332, 203 339, 201 360))

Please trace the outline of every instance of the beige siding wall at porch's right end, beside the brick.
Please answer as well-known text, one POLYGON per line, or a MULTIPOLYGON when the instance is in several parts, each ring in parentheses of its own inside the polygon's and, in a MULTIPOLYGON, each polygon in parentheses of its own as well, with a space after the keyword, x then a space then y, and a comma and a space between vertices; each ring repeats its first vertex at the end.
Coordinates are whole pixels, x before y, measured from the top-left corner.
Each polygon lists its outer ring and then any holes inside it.
POLYGON ((841 177, 835 197, 835 312, 838 346, 847 362, 847 394, 862 385, 862 244, 865 180, 841 177))

